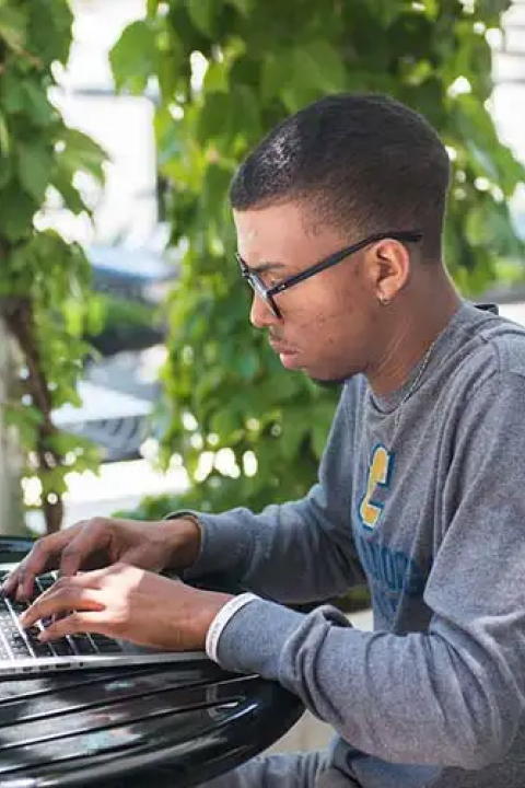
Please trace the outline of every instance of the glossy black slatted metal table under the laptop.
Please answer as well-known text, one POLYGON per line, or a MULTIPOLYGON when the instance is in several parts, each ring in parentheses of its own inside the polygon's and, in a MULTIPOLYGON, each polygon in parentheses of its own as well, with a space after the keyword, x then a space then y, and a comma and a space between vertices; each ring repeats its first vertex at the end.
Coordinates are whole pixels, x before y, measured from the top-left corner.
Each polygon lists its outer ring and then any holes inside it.
MULTIPOLYGON (((0 538, 0 561, 31 541, 0 538)), ((302 715, 299 698, 208 661, 0 681, 0 786, 189 788, 302 715)))

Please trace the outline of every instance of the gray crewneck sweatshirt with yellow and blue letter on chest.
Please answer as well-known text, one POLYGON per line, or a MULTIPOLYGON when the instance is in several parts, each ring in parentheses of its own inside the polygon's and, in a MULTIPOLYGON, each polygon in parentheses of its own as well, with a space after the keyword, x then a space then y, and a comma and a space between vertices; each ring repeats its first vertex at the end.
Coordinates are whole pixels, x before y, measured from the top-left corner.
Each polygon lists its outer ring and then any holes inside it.
POLYGON ((525 332, 465 303, 419 372, 388 398, 349 380, 318 484, 260 514, 198 514, 188 576, 262 598, 226 624, 220 663, 301 696, 365 788, 522 788, 525 332), (363 578, 372 633, 281 604, 363 578))

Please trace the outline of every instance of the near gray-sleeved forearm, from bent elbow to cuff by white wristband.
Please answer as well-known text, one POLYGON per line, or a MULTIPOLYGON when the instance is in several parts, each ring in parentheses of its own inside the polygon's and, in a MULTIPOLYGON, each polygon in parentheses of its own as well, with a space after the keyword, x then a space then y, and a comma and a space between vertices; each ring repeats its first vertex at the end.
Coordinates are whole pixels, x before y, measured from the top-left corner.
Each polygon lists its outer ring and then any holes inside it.
POLYGON ((509 746, 524 698, 498 660, 469 663, 454 638, 446 626, 432 636, 360 631, 328 605, 304 615, 256 600, 224 627, 217 661, 279 681, 386 762, 480 768, 509 746))

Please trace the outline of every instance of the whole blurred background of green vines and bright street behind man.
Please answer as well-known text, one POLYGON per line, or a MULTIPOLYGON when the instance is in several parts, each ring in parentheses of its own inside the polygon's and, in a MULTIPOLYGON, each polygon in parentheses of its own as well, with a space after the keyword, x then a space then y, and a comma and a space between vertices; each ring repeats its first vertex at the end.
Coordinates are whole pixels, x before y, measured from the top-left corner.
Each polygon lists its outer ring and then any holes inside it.
POLYGON ((226 196, 339 90, 434 125, 451 273, 525 325, 525 0, 0 4, 0 533, 305 494, 337 392, 248 325, 226 196))

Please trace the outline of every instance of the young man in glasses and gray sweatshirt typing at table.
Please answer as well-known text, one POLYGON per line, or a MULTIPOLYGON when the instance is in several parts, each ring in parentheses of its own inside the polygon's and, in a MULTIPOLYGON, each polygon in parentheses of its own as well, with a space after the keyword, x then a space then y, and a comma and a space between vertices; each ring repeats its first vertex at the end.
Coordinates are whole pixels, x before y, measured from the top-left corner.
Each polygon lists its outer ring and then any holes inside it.
POLYGON ((328 753, 256 758, 213 788, 524 785, 525 333, 447 276, 448 178, 433 129, 386 97, 329 96, 271 131, 233 181, 238 263, 283 366, 345 381, 318 484, 260 514, 80 523, 8 580, 24 595, 60 565, 27 625, 74 610, 49 638, 206 642, 338 734, 328 753), (100 548, 109 567, 74 576, 100 548), (155 573, 167 565, 228 571, 253 595, 174 583, 155 573), (278 604, 363 577, 373 633, 328 605, 278 604))

